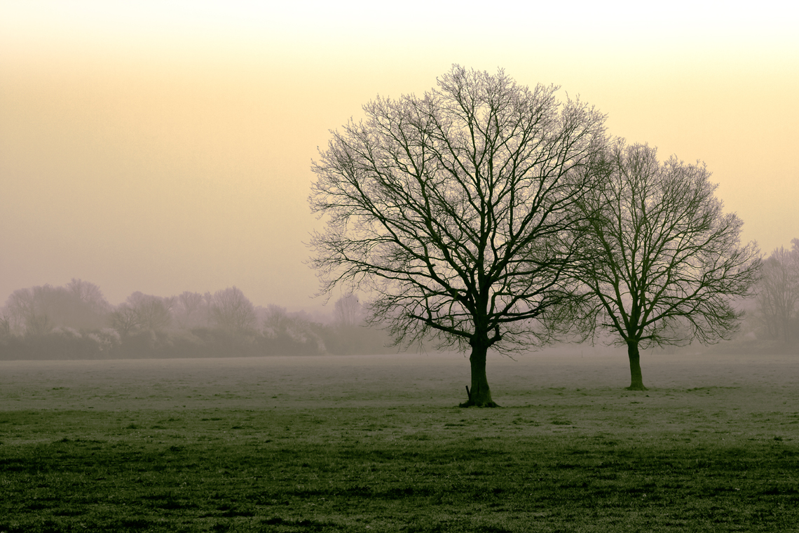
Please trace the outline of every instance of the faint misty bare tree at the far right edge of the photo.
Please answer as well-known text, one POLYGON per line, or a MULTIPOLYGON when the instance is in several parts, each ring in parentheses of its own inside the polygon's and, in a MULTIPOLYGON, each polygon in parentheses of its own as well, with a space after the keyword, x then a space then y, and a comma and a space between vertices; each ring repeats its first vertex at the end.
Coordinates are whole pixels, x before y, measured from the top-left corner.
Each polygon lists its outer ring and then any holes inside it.
POLYGON ((769 334, 789 344, 792 320, 799 302, 799 240, 793 239, 793 250, 775 249, 763 264, 763 277, 758 284, 757 310, 769 334))

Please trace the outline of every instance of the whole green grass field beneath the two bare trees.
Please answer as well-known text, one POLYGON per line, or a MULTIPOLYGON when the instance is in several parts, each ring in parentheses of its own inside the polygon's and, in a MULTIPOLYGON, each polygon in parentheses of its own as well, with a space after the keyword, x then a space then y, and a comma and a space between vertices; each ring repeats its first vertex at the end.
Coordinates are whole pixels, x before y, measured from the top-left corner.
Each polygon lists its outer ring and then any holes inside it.
POLYGON ((799 531, 799 360, 0 362, 0 532, 799 531))

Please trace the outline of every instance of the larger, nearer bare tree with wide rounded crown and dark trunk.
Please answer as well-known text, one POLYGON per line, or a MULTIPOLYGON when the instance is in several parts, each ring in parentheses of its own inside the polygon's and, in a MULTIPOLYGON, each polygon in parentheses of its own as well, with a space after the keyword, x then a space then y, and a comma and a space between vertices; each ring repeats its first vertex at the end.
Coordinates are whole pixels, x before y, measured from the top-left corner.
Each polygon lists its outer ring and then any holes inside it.
POLYGON ((570 303, 563 237, 594 185, 605 117, 557 89, 453 66, 423 97, 364 105, 312 165, 320 292, 365 290, 398 343, 471 347, 463 405, 495 405, 489 348, 550 341, 570 303))

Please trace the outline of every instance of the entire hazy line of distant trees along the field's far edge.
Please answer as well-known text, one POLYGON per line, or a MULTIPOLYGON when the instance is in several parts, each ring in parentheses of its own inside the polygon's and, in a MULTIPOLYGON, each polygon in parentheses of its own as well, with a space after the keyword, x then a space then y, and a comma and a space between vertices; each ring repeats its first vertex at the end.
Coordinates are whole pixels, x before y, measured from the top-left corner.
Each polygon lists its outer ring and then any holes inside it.
MULTIPOLYGON (((799 238, 774 250, 763 265, 755 296, 732 340, 648 352, 799 354, 799 238)), ((254 305, 239 288, 184 291, 173 296, 133 292, 110 304, 101 288, 72 279, 20 288, 0 308, 0 360, 139 359, 170 357, 368 355, 398 352, 380 324, 368 324, 368 303, 356 293, 340 296, 328 312, 289 312, 254 305)), ((602 336, 579 347, 559 344, 547 352, 622 352, 602 336)), ((421 344, 418 351, 435 349, 421 344)))

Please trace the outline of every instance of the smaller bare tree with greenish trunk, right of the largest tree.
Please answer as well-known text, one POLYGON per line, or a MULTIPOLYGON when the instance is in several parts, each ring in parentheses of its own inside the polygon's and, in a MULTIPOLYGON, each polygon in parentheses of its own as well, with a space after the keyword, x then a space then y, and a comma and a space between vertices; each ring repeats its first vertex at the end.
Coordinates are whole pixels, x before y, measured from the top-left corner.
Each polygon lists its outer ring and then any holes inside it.
POLYGON ((618 334, 630 359, 630 390, 646 390, 639 348, 712 343, 736 331, 731 300, 750 296, 760 267, 741 220, 724 213, 705 165, 647 145, 617 141, 603 186, 582 204, 590 221, 578 278, 594 293, 592 324, 618 334))

